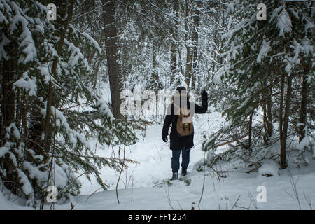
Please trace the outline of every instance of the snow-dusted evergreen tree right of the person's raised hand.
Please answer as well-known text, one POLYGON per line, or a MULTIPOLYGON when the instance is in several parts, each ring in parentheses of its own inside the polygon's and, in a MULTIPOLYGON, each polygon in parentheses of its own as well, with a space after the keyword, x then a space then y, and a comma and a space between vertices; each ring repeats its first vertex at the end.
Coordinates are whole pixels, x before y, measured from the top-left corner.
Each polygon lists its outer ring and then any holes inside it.
POLYGON ((265 4, 267 20, 260 21, 256 18, 255 2, 235 1, 233 6, 241 21, 223 35, 228 40, 223 53, 226 63, 215 78, 221 78, 220 85, 228 86, 223 114, 230 120, 230 128, 244 129, 248 117, 257 115, 255 112, 261 106, 263 136, 265 144, 269 144, 275 121, 272 114, 275 114, 279 121, 280 164, 286 168, 286 139, 294 113, 292 83, 299 82, 301 65, 305 62, 309 68, 307 76, 313 76, 314 64, 309 57, 314 48, 311 20, 314 10, 307 2, 267 1, 265 4), (279 108, 274 106, 275 102, 279 108))

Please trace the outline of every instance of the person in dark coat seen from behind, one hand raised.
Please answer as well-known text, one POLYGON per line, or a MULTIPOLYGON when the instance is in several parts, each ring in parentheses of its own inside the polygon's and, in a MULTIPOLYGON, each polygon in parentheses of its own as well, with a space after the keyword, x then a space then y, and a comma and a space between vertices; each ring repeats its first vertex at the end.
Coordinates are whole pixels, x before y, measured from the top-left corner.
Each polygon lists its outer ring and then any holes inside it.
POLYGON ((186 176, 190 160, 190 149, 194 146, 193 122, 192 120, 183 119, 193 118, 193 113, 206 113, 207 109, 208 94, 205 90, 202 91, 202 106, 198 106, 189 101, 185 87, 178 87, 176 89, 176 94, 172 97, 172 104, 168 106, 162 129, 162 140, 167 142, 169 126, 172 124, 169 145, 169 148, 172 150, 172 180, 178 179, 179 158, 181 154, 181 175, 186 176))

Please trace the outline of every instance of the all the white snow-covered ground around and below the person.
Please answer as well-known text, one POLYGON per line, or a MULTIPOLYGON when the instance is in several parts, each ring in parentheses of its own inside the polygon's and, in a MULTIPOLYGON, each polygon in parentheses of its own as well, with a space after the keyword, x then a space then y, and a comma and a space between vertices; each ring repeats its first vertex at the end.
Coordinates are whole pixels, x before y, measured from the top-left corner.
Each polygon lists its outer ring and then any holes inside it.
MULTIPOLYGON (((126 147, 126 158, 137 160, 138 165, 130 165, 123 172, 118 186, 118 204, 116 183, 118 173, 112 169, 103 169, 102 178, 109 184, 110 190, 98 190, 99 186, 84 177, 80 178, 83 188, 81 195, 73 198, 73 209, 310 209, 315 204, 315 161, 309 160, 309 167, 300 169, 290 165, 286 170, 278 170, 273 161, 266 161, 258 172, 247 174, 235 164, 223 164, 216 167, 219 171, 228 171, 220 178, 207 167, 198 172, 196 167, 202 163, 204 153, 201 150, 202 135, 217 130, 223 123, 220 113, 200 115, 194 120, 195 147, 190 153, 188 181, 172 181, 172 185, 163 182, 172 176, 169 142, 161 139, 162 125, 153 125, 146 130, 145 137, 126 147), (292 174, 290 178, 289 171, 292 174), (205 174, 205 176, 203 175, 205 174), (273 174, 273 176, 265 176, 273 174), (204 181, 204 182, 203 182, 204 181), (298 200, 295 197, 296 186, 298 200), (204 183, 204 192, 202 187, 204 183), (98 190, 98 191, 97 191, 98 190), (264 195, 265 193, 265 195, 264 195), (202 200, 200 202, 200 197, 202 200), (299 205, 300 202, 300 205, 299 205), (200 203, 200 204, 199 204, 200 203)), ((118 148, 100 146, 96 141, 97 154, 118 157, 118 148)), ((224 151, 225 148, 221 148, 224 151)), ((123 151, 120 152, 120 158, 123 151)), ((8 195, 0 192, 0 209, 32 209, 24 207, 19 200, 8 201, 8 195)), ((45 207, 49 209, 49 206, 45 207)), ((55 209, 71 209, 70 202, 55 204, 55 209)))

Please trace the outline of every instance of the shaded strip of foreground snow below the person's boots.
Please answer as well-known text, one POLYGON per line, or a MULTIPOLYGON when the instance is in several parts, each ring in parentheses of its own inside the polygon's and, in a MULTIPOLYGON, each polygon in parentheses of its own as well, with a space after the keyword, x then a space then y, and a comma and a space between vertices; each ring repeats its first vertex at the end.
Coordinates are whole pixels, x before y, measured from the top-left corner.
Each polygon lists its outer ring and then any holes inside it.
MULTIPOLYGON (((314 171, 314 165, 308 169, 314 171)), ((203 176, 200 172, 193 172, 190 173, 189 178, 192 180, 189 186, 183 181, 173 181, 172 186, 165 185, 162 188, 118 190, 120 204, 117 202, 115 190, 96 193, 90 197, 76 197, 76 209, 191 209, 192 206, 198 209, 197 204, 202 193, 203 176)), ((295 180, 298 178, 297 192, 300 196, 302 209, 309 209, 309 204, 304 199, 303 193, 312 202, 315 202, 314 172, 295 173, 293 178, 295 180)), ((211 176, 206 176, 200 208, 231 209, 240 195, 237 202, 238 207, 235 209, 242 209, 241 207, 255 209, 249 195, 251 194, 256 199, 258 186, 265 186, 267 189, 267 202, 255 202, 258 209, 299 209, 297 200, 292 198, 294 197, 293 188, 286 172, 276 177, 259 176, 258 173, 234 173, 221 183, 213 180, 211 176)), ((56 206, 56 209, 69 208, 69 204, 56 206)))

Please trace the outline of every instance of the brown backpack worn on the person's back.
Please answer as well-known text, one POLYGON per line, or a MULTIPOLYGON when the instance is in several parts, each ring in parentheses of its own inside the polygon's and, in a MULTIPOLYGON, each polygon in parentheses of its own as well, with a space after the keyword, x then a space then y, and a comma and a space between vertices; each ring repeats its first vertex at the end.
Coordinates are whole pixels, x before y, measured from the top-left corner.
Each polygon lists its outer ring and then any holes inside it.
POLYGON ((175 111, 175 108, 177 109, 177 115, 178 115, 177 124, 176 124, 177 134, 179 134, 180 137, 194 134, 193 120, 190 117, 190 111, 187 108, 187 106, 185 106, 182 109, 176 104, 174 103, 172 104, 174 105, 174 111, 175 111))

